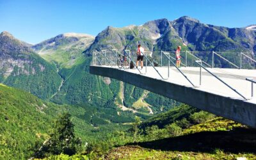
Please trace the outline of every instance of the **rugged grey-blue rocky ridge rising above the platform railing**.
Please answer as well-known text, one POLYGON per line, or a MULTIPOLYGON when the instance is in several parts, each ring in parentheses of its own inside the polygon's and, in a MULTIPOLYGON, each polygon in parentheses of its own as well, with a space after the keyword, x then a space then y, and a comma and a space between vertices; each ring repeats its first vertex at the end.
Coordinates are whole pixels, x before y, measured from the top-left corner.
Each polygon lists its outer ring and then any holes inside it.
MULTIPOLYGON (((108 26, 96 36, 93 44, 84 53, 92 55, 93 51, 103 49, 119 51, 130 49, 134 52, 136 46, 141 44, 146 51, 153 51, 153 56, 159 57, 159 51, 175 51, 177 45, 181 45, 182 51, 200 51, 196 56, 200 56, 208 63, 211 63, 211 51, 218 51, 222 52, 222 56, 239 65, 239 56, 234 55, 234 52, 245 52, 247 56, 254 58, 255 38, 256 32, 250 27, 246 29, 213 26, 184 16, 172 21, 152 20, 141 26, 124 28, 108 26)), ((214 61, 216 67, 232 67, 218 57, 214 61)), ((243 63, 244 68, 255 67, 255 64, 246 58, 243 58, 243 63)))

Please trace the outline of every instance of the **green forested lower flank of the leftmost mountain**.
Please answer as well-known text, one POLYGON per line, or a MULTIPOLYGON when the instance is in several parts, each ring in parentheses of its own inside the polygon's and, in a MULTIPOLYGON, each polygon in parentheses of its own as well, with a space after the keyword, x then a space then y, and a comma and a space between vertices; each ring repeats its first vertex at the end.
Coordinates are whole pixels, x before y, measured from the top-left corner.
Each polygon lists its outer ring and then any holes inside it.
POLYGON ((1 83, 26 90, 42 99, 49 99, 61 83, 61 77, 56 72, 56 67, 34 54, 28 56, 26 60, 31 61, 30 65, 25 65, 29 74, 20 74, 22 71, 15 66, 12 74, 1 83))

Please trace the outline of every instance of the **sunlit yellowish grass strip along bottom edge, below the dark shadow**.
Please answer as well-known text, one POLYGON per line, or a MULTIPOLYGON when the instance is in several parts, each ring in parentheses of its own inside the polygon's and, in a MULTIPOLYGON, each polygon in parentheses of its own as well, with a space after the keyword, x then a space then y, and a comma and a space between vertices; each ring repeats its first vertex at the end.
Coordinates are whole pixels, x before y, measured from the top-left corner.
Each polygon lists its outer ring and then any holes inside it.
POLYGON ((256 159, 255 154, 232 154, 221 150, 213 150, 211 153, 204 152, 180 152, 180 151, 161 151, 148 148, 142 148, 138 145, 129 145, 118 147, 104 159, 237 159, 246 157, 247 159, 256 159))

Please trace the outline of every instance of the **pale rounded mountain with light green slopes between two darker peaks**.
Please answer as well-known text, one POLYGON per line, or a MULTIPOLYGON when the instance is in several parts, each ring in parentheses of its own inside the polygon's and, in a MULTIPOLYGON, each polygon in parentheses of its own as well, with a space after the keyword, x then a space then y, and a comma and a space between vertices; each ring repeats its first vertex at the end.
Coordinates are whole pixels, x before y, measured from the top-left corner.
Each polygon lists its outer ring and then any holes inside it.
POLYGON ((94 36, 83 33, 64 33, 33 45, 32 48, 45 60, 58 63, 62 68, 70 68, 84 61, 81 53, 94 39, 94 36))

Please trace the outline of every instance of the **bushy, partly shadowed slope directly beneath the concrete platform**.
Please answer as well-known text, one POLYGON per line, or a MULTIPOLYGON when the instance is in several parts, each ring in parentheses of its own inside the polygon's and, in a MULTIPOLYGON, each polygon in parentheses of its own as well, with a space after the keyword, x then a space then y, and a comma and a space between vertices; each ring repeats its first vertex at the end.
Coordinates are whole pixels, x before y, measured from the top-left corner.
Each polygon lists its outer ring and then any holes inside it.
POLYGON ((255 129, 181 105, 142 122, 136 143, 105 159, 255 159, 255 129), (186 125, 184 125, 186 124, 186 125))

